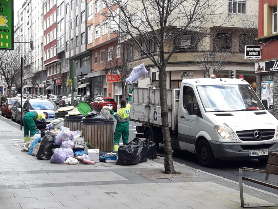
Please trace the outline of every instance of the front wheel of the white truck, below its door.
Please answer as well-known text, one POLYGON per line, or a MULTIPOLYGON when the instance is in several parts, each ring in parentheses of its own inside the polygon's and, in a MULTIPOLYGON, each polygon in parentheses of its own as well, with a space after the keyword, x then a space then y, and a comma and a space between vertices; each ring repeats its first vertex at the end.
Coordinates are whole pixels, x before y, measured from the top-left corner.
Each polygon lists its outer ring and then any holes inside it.
POLYGON ((199 163, 204 167, 211 167, 215 164, 213 152, 208 144, 208 141, 205 139, 198 143, 197 158, 199 163))

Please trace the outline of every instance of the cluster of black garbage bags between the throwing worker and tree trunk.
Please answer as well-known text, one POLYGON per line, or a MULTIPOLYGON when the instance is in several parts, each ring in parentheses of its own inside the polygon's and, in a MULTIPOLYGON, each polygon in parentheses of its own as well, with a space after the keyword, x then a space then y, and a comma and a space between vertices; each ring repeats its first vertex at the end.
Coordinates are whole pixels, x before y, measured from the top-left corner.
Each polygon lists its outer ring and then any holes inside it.
POLYGON ((150 139, 142 141, 134 138, 127 145, 119 147, 118 156, 117 165, 136 165, 147 161, 148 158, 155 159, 156 143, 150 139))

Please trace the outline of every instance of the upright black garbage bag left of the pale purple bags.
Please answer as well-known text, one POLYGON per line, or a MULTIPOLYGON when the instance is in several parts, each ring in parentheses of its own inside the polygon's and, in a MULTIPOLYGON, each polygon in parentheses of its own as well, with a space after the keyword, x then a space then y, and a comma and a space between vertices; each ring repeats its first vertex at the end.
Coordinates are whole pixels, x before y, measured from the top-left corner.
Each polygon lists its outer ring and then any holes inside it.
POLYGON ((54 141, 54 133, 47 132, 40 143, 36 157, 41 160, 49 160, 53 155, 54 141))

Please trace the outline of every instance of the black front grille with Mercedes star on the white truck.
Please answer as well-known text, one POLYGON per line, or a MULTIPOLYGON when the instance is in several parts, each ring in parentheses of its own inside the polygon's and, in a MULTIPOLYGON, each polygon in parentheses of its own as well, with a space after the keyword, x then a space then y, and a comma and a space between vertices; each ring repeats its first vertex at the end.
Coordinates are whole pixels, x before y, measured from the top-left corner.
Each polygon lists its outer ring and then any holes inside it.
POLYGON ((275 129, 254 129, 254 130, 237 131, 236 133, 242 141, 256 142, 256 141, 264 141, 264 140, 272 139, 275 135, 275 129), (259 135, 259 137, 255 138, 255 135, 256 136, 259 135))

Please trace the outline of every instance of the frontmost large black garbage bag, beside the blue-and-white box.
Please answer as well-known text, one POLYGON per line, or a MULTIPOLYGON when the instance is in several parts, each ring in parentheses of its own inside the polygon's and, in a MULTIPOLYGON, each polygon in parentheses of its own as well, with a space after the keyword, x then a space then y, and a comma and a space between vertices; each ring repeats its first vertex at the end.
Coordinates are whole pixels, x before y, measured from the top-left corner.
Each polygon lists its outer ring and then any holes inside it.
POLYGON ((138 155, 139 145, 129 144, 120 146, 118 149, 117 165, 137 165, 139 164, 138 155))

